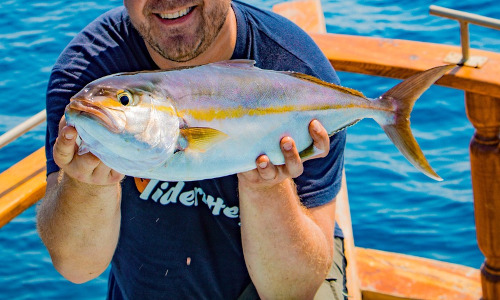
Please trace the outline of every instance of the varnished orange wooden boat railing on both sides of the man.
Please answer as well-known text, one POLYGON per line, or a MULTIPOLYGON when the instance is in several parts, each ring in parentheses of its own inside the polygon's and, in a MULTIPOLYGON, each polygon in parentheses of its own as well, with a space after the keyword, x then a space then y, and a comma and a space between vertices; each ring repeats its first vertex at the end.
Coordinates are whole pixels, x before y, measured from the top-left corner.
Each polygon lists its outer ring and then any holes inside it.
MULTIPOLYGON (((403 79, 444 64, 450 52, 460 52, 450 45, 326 34, 320 7, 319 0, 305 0, 274 10, 308 31, 338 71, 403 79)), ((352 243, 346 248, 352 299, 500 299, 500 54, 469 52, 487 57, 487 62, 455 70, 437 84, 465 91, 467 116, 475 128, 470 160, 477 239, 486 257, 481 275, 464 266, 354 248, 344 180, 337 220, 352 243)), ((1 227, 43 197, 44 149, 1 173, 0 182, 1 227)))

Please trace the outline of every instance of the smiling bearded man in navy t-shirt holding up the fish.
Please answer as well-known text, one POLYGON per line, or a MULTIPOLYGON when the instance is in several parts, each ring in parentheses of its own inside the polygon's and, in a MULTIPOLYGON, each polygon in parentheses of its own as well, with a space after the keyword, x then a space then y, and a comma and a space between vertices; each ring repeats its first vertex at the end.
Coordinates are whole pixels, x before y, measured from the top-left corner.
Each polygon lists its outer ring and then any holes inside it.
POLYGON ((124 177, 90 153, 77 155, 77 132, 61 119, 72 95, 112 73, 254 59, 261 68, 337 82, 326 58, 288 21, 241 2, 124 4, 75 37, 49 82, 47 193, 38 228, 55 268, 81 283, 111 262, 110 299, 252 298, 255 289, 265 299, 308 299, 323 282, 337 282, 341 295, 342 274, 331 273, 343 268, 333 216, 344 133, 329 139, 312 121, 323 154, 304 164, 284 137, 285 165, 262 155, 249 172, 158 182, 124 177))

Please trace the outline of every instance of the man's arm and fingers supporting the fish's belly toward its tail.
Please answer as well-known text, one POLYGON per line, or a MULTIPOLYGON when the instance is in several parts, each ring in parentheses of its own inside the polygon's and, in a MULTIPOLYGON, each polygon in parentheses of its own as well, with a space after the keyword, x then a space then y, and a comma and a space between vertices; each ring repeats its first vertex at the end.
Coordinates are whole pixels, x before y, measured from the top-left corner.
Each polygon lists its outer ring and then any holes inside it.
MULTIPOLYGON (((315 146, 329 151, 326 130, 313 121, 315 146)), ((292 178, 303 171, 293 140, 281 141, 285 165, 266 156, 257 169, 238 174, 245 261, 261 298, 312 299, 331 266, 335 201, 316 208, 301 205, 292 178)))

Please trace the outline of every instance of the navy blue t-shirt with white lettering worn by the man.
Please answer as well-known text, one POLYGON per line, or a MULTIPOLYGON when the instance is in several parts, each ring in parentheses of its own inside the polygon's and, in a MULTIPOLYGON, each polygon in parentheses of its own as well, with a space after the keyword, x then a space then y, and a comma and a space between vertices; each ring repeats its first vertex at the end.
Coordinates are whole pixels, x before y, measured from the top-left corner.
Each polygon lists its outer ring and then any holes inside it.
MULTIPOLYGON (((329 61, 288 20, 233 1, 237 42, 233 59, 264 69, 293 70, 338 83, 329 61)), ((80 32, 56 62, 47 91, 47 173, 58 123, 71 96, 105 75, 154 70, 144 41, 123 7, 80 32)), ((342 179, 345 132, 330 138, 326 158, 304 164, 295 179, 306 207, 330 202, 342 179)), ((120 238, 112 260, 110 299, 235 299, 250 283, 240 233, 236 175, 195 182, 125 177, 120 238)), ((332 216, 333 218, 334 216, 332 216)), ((341 231, 336 227, 336 236, 341 231)))

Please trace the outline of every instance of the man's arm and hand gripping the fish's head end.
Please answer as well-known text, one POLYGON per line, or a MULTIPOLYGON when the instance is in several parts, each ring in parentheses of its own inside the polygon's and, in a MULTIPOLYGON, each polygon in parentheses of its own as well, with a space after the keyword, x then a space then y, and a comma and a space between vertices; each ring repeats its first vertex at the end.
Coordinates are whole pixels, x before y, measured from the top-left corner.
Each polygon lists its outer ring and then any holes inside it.
POLYGON ((76 130, 64 117, 54 145, 59 173, 47 177, 37 227, 54 267, 68 280, 83 283, 106 270, 120 231, 123 175, 97 157, 76 154, 76 130))

